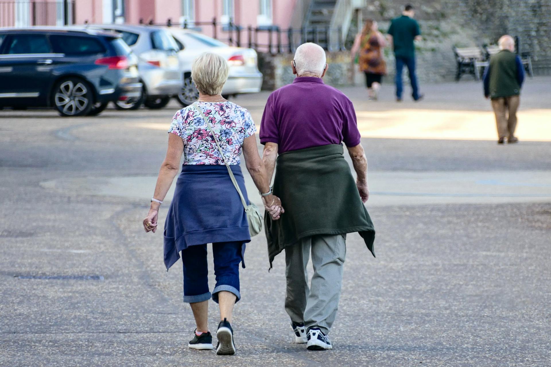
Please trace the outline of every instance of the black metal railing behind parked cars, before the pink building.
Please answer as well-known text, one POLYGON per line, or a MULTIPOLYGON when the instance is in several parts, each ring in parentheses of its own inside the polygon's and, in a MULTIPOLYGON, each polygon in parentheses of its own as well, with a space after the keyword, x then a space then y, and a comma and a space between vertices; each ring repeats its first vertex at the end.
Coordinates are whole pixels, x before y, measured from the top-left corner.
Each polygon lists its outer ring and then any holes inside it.
MULTIPOLYGON (((173 23, 168 19, 165 23, 155 23, 153 20, 147 23, 139 20, 140 24, 155 26, 180 27, 184 29, 210 28, 210 35, 219 41, 228 43, 230 46, 249 47, 257 52, 271 54, 293 53, 296 47, 304 42, 315 42, 327 51, 344 51, 342 28, 330 27, 301 27, 301 28, 279 28, 278 26, 244 27, 233 23, 220 23, 217 18, 211 21, 195 21, 188 23, 173 23)), ((204 32, 209 34, 209 32, 204 32)))

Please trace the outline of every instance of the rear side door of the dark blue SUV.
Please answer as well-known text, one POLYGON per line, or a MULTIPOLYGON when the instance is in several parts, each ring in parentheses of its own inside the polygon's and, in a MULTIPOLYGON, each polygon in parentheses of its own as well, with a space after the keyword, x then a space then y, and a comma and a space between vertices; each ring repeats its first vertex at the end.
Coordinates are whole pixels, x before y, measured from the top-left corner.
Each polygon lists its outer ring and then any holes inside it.
POLYGON ((51 70, 61 57, 45 34, 6 36, 0 48, 0 105, 46 106, 51 70))

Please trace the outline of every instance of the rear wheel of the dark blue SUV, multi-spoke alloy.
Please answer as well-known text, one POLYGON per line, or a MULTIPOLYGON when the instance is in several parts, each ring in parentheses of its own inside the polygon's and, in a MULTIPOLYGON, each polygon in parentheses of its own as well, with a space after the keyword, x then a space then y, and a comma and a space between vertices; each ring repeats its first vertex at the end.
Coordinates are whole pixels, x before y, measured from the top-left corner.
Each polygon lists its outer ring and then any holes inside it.
POLYGON ((65 78, 53 88, 53 106, 61 116, 85 116, 93 107, 92 90, 80 78, 65 78))

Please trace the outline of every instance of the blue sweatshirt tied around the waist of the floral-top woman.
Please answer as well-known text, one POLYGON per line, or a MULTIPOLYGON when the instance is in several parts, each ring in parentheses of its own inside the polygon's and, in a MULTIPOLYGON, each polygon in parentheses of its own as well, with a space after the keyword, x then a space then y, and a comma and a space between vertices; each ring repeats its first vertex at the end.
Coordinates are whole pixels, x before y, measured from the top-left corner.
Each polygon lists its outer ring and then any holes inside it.
MULTIPOLYGON (((249 203, 239 165, 233 165, 237 184, 249 203)), ((193 245, 250 242, 249 223, 239 194, 224 165, 183 165, 165 221, 166 270, 193 245)))

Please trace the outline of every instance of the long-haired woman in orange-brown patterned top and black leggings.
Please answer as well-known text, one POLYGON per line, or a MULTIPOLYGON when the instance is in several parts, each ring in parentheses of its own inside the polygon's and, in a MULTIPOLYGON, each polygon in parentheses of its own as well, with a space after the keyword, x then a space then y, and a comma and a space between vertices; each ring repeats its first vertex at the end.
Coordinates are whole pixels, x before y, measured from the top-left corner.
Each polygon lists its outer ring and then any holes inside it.
POLYGON ((351 52, 352 58, 360 52, 360 71, 365 73, 365 84, 371 101, 377 100, 382 76, 386 74, 386 63, 382 54, 382 48, 385 46, 386 40, 377 29, 377 22, 372 19, 366 20, 363 30, 354 40, 351 52))

